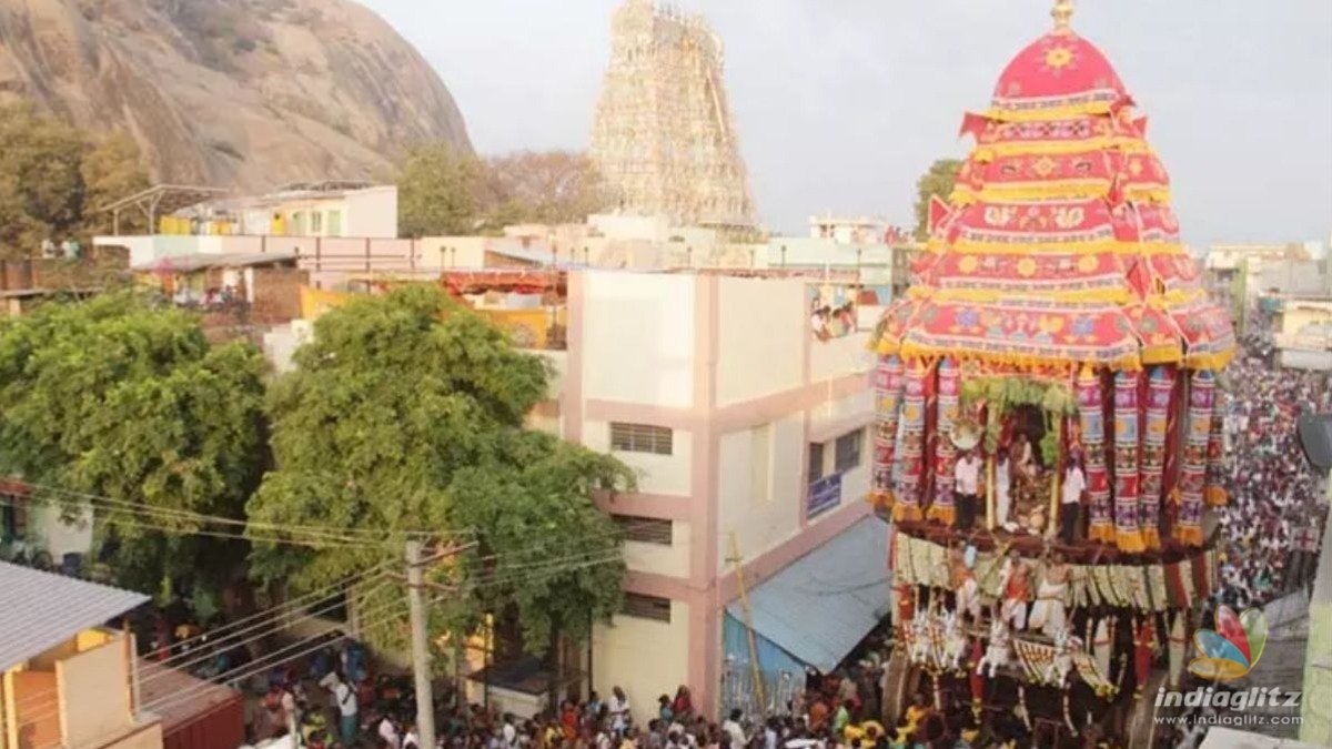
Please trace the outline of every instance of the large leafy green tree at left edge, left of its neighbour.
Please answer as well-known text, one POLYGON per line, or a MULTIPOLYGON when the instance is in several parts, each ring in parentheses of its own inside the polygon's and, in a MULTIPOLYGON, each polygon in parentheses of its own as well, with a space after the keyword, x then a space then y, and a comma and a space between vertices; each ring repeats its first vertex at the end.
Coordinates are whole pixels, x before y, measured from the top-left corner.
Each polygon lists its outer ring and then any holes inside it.
POLYGON ((0 321, 0 470, 67 508, 95 497, 120 584, 220 589, 246 544, 174 518, 244 517, 264 465, 262 372, 253 347, 209 345, 197 316, 129 292, 44 304, 0 321))

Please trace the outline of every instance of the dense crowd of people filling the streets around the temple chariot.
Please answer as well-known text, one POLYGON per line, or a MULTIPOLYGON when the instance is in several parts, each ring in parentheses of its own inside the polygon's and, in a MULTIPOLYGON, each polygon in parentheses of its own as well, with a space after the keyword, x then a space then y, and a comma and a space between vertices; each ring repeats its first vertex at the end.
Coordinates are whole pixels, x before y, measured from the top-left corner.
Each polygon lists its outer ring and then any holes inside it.
MULTIPOLYGON (((1312 582, 1327 506, 1307 468, 1296 420, 1328 410, 1323 374, 1269 367, 1260 359, 1227 372, 1229 504, 1219 513, 1221 586, 1213 604, 1261 606, 1312 582)), ((882 650, 882 648, 880 648, 882 650)), ((882 654, 882 653, 880 653, 882 654)), ((342 662, 344 668, 354 664, 342 662)), ((262 734, 281 736, 296 713, 306 746, 422 749, 412 712, 385 712, 374 690, 356 690, 334 669, 318 686, 276 684, 264 700, 262 734)), ((530 720, 454 702, 437 710, 441 749, 980 749, 1003 746, 963 705, 942 714, 918 696, 892 725, 879 722, 884 669, 872 658, 834 674, 806 674, 806 689, 778 716, 731 710, 717 722, 697 712, 686 686, 646 709, 618 686, 602 698, 565 701, 530 720), (452 706, 450 706, 452 705, 452 706)), ((1016 718, 1014 718, 1016 720, 1016 718)), ((991 717, 991 721, 992 717, 991 717)), ((1020 734, 1015 726, 1012 734, 1020 734)), ((1203 736, 1185 730, 1177 746, 1203 736)), ((1095 740, 1088 744, 1098 745, 1095 740)))

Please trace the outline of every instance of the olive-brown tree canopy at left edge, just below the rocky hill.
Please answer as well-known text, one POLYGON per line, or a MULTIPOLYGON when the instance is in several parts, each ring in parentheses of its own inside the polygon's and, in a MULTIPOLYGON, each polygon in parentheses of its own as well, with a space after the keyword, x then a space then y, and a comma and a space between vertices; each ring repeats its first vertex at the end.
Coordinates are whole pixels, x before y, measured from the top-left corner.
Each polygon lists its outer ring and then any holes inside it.
POLYGON ((0 107, 0 255, 28 257, 51 239, 85 240, 97 209, 148 185, 135 141, 95 139, 28 105, 0 107))

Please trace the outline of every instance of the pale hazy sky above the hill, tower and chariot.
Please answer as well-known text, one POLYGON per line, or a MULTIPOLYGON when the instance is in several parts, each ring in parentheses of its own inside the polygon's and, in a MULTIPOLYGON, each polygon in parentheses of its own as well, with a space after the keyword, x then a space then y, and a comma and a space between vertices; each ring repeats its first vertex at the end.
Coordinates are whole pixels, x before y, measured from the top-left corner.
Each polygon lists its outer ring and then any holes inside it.
MULTIPOLYGON (((360 0, 436 67, 482 153, 587 147, 621 0, 360 0)), ((966 111, 1051 27, 1051 0, 682 0, 725 79, 765 225, 910 225, 966 111)), ((1175 185, 1185 241, 1332 237, 1332 1, 1082 0, 1175 185)))

